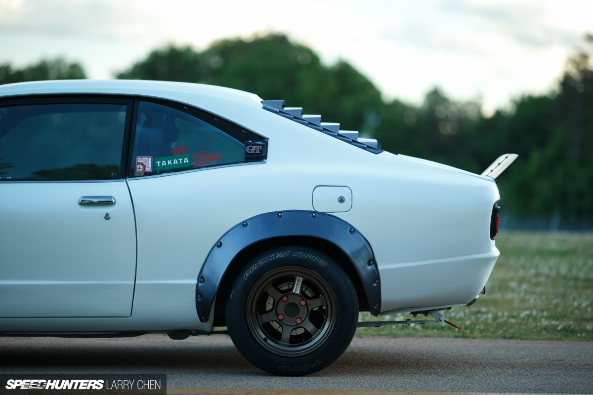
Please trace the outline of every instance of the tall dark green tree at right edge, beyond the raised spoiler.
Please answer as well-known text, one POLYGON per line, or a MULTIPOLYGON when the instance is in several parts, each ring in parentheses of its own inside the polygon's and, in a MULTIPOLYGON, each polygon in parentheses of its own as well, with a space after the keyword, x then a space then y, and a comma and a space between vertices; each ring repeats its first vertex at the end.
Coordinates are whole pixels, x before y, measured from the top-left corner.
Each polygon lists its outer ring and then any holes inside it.
POLYGON ((579 53, 569 59, 559 91, 521 99, 508 124, 522 152, 506 186, 515 209, 593 215, 591 57, 579 53))

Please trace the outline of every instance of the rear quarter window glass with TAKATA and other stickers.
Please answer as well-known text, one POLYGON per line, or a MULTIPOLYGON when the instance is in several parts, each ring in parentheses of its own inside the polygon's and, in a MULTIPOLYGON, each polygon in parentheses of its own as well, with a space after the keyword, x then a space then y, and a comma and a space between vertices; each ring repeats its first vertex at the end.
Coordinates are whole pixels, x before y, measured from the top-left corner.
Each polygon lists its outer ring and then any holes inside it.
POLYGON ((244 149, 243 142, 200 118, 140 102, 132 174, 155 175, 243 162, 244 149))

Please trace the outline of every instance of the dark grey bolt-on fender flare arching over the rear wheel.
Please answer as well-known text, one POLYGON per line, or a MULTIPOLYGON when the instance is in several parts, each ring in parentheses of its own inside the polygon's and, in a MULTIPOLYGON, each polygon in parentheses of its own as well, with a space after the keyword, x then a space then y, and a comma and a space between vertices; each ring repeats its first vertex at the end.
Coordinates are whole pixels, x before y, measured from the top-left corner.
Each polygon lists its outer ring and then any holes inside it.
POLYGON ((379 314, 381 281, 368 240, 355 227, 331 214, 290 210, 251 217, 218 239, 197 278, 196 311, 201 322, 208 321, 221 280, 235 256, 256 242, 283 236, 317 237, 342 250, 358 273, 371 313, 379 314))

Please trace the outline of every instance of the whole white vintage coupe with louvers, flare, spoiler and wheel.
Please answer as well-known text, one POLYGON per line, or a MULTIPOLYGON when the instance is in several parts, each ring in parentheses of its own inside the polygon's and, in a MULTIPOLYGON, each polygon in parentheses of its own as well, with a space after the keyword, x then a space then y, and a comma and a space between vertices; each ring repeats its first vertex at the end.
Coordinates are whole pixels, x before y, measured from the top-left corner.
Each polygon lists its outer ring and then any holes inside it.
POLYGON ((2 85, 0 335, 227 326, 263 370, 321 370, 359 311, 477 298, 515 156, 471 174, 218 86, 2 85))

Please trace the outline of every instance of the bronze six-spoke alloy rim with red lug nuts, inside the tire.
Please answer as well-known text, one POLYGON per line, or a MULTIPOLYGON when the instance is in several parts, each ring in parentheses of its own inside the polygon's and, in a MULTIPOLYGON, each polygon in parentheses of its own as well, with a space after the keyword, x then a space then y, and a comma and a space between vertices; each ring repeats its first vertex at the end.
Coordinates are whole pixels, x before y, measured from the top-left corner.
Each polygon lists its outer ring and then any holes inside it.
POLYGON ((327 341, 336 321, 336 300, 327 282, 298 266, 268 272, 251 288, 247 325, 263 348, 300 357, 327 341))

